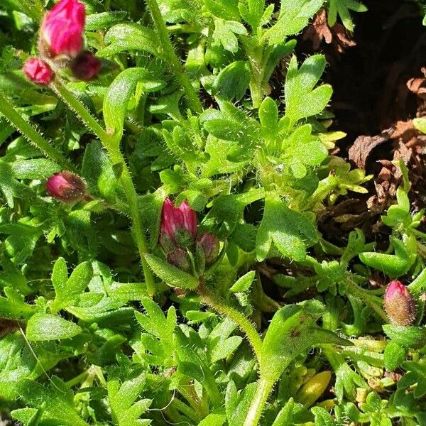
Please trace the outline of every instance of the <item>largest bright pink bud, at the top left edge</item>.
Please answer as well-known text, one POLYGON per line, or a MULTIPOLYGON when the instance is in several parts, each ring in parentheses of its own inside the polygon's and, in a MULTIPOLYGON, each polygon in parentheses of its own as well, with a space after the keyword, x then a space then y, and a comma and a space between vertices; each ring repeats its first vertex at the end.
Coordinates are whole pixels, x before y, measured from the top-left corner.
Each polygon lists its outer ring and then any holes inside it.
POLYGON ((60 0, 41 25, 41 41, 50 55, 68 55, 75 58, 83 46, 85 19, 84 4, 77 0, 60 0))

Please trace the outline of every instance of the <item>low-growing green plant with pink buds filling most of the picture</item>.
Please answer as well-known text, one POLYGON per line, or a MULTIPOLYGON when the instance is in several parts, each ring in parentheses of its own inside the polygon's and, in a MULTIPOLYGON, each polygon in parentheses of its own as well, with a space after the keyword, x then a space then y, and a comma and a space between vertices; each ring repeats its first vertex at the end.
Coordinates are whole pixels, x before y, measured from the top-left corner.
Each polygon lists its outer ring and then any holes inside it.
POLYGON ((5 418, 426 425, 405 165, 386 251, 317 227, 371 176, 332 154, 326 59, 295 35, 322 8, 353 31, 365 6, 53 3, 0 5, 5 418))

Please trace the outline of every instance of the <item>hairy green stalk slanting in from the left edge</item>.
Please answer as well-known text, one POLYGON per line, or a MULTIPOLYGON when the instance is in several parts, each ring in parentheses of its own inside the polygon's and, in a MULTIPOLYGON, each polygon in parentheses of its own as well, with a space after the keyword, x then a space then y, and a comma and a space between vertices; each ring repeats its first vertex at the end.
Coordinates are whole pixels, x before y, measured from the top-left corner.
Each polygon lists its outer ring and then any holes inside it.
POLYGON ((11 124, 20 131, 28 141, 31 141, 37 148, 40 149, 46 156, 52 158, 65 170, 75 170, 70 161, 65 158, 60 151, 48 143, 43 136, 28 121, 24 120, 21 114, 16 112, 16 109, 9 103, 9 101, 0 94, 0 114, 3 114, 11 124))

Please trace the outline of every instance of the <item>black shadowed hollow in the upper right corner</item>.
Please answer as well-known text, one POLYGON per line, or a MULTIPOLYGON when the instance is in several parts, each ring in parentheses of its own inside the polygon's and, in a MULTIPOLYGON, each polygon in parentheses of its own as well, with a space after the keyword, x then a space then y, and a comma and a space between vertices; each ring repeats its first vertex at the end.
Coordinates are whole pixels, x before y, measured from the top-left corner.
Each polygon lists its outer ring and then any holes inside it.
MULTIPOLYGON (((415 117, 417 102, 407 82, 423 77, 421 67, 426 65, 426 28, 416 4, 400 0, 364 4, 367 12, 352 13, 355 46, 337 53, 323 42, 317 50, 327 55, 324 81, 334 92, 333 129, 347 133, 339 144, 343 149, 357 136, 376 135, 396 121, 415 117)), ((310 40, 299 40, 297 50, 299 56, 314 53, 310 40)))

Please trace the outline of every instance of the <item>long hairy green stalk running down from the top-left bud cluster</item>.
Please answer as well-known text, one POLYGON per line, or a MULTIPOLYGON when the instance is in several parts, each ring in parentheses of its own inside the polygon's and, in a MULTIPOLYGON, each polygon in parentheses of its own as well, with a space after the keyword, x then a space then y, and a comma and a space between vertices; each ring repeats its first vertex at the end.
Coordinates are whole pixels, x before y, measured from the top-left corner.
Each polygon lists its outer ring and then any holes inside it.
POLYGON ((84 121, 84 123, 93 131, 93 133, 100 139, 102 144, 109 153, 111 160, 114 164, 122 165, 121 173, 121 185, 123 187, 124 193, 126 194, 126 199, 129 204, 129 215, 132 221, 132 233, 133 238, 136 241, 136 246, 138 247, 139 257, 141 258, 143 275, 145 276, 146 289, 148 294, 153 296, 155 294, 155 280, 151 269, 148 267, 148 264, 145 261, 144 254, 148 253, 148 243, 146 241, 145 231, 143 230, 141 213, 138 206, 138 195, 136 193, 135 187, 131 180, 130 170, 127 167, 126 160, 121 153, 119 147, 116 146, 114 141, 114 135, 109 135, 102 126, 98 123, 96 119, 87 111, 84 105, 75 97, 72 92, 70 92, 62 83, 55 81, 50 84, 50 87, 58 94, 58 96, 66 102, 71 109, 75 111, 77 116, 84 121))

